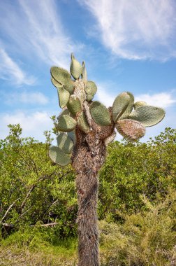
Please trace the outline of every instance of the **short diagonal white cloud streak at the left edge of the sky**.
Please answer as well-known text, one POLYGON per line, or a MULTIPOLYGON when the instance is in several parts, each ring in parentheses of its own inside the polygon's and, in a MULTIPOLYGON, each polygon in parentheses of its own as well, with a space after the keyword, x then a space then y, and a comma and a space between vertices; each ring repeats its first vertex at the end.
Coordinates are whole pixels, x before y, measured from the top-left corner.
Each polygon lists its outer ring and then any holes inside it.
POLYGON ((35 78, 28 76, 20 66, 13 61, 5 50, 0 48, 0 78, 10 80, 16 85, 33 85, 35 78))

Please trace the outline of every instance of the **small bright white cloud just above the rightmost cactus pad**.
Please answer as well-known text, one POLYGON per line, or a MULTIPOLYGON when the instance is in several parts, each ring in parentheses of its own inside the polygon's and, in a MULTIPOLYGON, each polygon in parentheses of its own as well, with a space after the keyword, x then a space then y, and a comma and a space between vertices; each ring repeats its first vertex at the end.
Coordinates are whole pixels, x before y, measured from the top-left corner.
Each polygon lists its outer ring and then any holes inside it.
POLYGON ((135 97, 135 102, 138 101, 145 101, 149 105, 166 108, 168 106, 175 104, 176 97, 174 99, 173 95, 167 92, 161 92, 152 95, 140 94, 137 97, 135 97))

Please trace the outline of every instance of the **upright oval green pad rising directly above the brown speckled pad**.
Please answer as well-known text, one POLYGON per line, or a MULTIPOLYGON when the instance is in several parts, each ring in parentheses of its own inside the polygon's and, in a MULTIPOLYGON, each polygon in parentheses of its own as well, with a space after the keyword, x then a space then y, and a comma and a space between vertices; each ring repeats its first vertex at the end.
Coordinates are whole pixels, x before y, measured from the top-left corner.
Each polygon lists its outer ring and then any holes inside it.
POLYGON ((127 92, 122 92, 119 94, 112 105, 112 118, 116 123, 118 118, 122 116, 124 111, 126 111, 127 106, 129 106, 130 96, 127 92))

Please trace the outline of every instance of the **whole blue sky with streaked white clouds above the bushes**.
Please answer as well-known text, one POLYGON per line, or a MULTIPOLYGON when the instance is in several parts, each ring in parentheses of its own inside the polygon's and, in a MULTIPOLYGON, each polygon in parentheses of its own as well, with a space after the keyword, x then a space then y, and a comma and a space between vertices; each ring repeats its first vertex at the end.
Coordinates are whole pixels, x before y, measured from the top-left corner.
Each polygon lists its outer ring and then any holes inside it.
POLYGON ((20 123, 24 136, 45 140, 61 111, 50 67, 69 69, 71 52, 107 107, 129 91, 166 110, 141 141, 175 128, 175 13, 175 0, 0 0, 0 138, 20 123))

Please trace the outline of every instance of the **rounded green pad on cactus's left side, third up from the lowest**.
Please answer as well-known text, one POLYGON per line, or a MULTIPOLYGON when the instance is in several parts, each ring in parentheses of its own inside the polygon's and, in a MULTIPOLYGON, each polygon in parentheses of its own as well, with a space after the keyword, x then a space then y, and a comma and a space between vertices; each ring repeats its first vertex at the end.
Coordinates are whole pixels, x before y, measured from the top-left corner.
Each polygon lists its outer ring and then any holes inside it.
POLYGON ((62 132, 69 132, 74 130, 76 126, 75 119, 71 118, 71 116, 64 115, 59 116, 58 123, 57 123, 57 130, 62 132))

